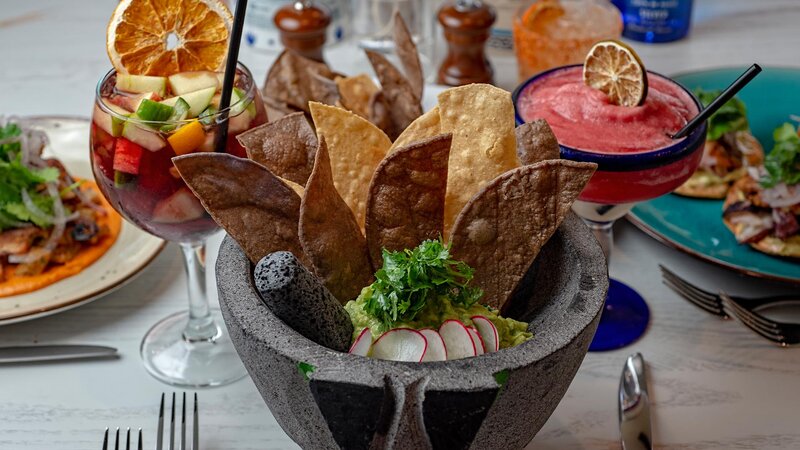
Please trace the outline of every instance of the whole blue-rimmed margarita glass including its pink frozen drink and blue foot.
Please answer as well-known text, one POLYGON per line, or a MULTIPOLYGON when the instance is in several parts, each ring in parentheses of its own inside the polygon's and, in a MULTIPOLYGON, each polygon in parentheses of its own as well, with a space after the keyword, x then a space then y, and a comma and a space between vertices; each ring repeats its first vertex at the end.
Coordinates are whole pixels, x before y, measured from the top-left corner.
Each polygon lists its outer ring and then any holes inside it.
MULTIPOLYGON (((683 139, 670 135, 701 109, 691 91, 648 72, 643 106, 610 105, 605 94, 583 85, 582 65, 555 68, 522 83, 513 94, 517 124, 546 119, 561 157, 597 163, 573 210, 597 237, 606 258, 614 221, 636 202, 660 197, 686 181, 703 155, 706 124, 683 139)), ((600 325, 590 350, 620 348, 638 339, 650 312, 627 285, 610 280, 600 325)))

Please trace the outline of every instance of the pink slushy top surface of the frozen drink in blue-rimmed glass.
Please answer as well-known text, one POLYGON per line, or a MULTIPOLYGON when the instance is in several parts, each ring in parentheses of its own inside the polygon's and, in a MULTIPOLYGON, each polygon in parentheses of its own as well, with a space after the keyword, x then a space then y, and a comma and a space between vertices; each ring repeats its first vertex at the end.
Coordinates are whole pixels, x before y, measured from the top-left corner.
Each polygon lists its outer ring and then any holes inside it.
POLYGON ((648 75, 642 106, 612 104, 570 67, 529 84, 517 111, 525 122, 545 119, 562 145, 598 153, 633 153, 674 144, 669 135, 697 114, 692 98, 673 81, 648 75))

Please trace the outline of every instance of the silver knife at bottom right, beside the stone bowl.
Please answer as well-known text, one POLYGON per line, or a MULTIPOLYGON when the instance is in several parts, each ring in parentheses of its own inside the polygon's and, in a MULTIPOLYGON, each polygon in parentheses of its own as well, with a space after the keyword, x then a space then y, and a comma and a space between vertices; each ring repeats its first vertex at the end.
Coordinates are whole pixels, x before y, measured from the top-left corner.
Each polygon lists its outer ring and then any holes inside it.
POLYGON ((628 357, 619 380, 619 434, 624 450, 652 450, 650 395, 644 358, 628 357))

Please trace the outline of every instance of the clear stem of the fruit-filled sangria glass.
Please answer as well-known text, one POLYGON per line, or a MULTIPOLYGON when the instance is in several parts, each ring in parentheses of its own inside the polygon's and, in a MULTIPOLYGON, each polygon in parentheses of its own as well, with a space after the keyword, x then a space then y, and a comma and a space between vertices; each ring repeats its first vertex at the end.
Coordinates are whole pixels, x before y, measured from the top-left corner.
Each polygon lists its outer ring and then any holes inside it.
POLYGON ((206 243, 180 244, 189 288, 189 322, 183 339, 189 342, 213 340, 219 330, 211 317, 206 295, 206 243))

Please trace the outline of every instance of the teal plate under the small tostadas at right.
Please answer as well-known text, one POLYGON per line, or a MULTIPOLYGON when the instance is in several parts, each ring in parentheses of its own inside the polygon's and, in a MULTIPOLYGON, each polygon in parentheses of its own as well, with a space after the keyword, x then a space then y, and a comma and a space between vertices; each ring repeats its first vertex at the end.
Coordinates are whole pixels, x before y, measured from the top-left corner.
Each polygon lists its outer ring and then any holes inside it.
MULTIPOLYGON (((673 76, 689 89, 723 89, 746 67, 673 76)), ((753 134, 769 151, 772 131, 790 115, 800 116, 800 69, 765 67, 739 97, 747 105, 753 134)), ((740 245, 722 223, 722 200, 665 195, 636 205, 628 214, 636 227, 692 256, 746 275, 800 284, 800 260, 769 256, 740 245)))

